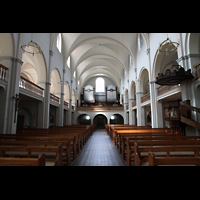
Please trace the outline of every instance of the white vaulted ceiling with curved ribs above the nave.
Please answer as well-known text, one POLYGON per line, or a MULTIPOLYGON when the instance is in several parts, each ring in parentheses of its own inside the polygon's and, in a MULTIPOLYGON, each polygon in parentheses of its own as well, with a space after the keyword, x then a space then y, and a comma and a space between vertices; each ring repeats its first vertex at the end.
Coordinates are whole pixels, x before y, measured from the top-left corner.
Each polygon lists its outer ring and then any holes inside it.
MULTIPOLYGON (((94 76, 109 77, 118 86, 137 54, 137 33, 62 33, 65 60, 83 85, 94 76)), ((66 65, 65 65, 66 66, 66 65)))

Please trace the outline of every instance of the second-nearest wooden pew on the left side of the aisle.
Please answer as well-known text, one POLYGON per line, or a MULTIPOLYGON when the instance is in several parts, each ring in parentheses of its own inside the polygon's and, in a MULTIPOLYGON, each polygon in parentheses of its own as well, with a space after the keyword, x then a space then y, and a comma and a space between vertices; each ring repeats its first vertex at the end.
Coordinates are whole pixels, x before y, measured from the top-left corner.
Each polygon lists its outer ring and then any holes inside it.
POLYGON ((0 146, 0 157, 35 157, 39 153, 46 153, 46 161, 51 161, 51 157, 55 157, 55 165, 62 165, 62 143, 58 147, 38 147, 38 146, 0 146), (37 152, 37 153, 36 153, 37 152), (48 152, 54 152, 56 155, 48 155, 48 152))

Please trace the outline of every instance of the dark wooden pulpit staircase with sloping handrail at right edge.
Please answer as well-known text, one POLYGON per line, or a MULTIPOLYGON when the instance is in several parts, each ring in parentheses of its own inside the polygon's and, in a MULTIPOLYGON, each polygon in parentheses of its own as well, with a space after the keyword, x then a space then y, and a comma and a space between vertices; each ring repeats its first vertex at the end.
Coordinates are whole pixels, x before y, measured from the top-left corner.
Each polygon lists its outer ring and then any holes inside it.
POLYGON ((180 102, 180 120, 200 129, 200 108, 191 106, 189 101, 180 102))

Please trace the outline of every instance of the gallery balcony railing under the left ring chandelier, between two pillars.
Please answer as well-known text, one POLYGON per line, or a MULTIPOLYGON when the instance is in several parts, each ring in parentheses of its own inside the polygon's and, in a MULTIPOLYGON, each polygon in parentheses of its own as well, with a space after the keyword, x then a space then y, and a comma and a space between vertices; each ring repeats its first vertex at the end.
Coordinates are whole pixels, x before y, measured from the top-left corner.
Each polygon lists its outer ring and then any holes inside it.
POLYGON ((44 97, 44 89, 24 77, 20 77, 19 87, 44 97))

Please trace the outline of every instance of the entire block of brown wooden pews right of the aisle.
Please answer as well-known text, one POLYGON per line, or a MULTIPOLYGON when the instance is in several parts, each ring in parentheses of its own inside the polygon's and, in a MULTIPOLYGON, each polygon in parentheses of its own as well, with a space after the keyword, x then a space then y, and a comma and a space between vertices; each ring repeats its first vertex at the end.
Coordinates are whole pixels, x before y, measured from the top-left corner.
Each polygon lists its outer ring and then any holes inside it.
POLYGON ((200 136, 179 136, 170 128, 105 125, 128 166, 200 166, 200 136))

